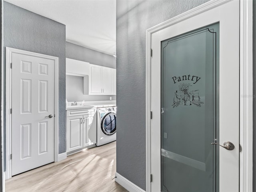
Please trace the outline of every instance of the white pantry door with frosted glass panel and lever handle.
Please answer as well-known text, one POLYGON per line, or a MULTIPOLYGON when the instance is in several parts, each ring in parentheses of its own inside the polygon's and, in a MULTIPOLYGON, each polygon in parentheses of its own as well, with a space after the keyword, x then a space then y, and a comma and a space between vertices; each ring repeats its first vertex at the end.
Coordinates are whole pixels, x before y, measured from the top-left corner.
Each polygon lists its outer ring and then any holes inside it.
POLYGON ((239 1, 158 30, 151 48, 151 192, 238 192, 239 1))

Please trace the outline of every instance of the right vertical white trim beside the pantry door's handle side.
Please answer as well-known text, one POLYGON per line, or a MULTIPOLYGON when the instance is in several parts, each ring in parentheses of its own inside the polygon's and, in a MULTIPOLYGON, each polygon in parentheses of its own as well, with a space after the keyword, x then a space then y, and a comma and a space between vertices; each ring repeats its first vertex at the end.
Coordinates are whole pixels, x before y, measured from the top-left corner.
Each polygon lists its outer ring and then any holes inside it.
POLYGON ((240 0, 240 191, 252 192, 252 0, 240 0))

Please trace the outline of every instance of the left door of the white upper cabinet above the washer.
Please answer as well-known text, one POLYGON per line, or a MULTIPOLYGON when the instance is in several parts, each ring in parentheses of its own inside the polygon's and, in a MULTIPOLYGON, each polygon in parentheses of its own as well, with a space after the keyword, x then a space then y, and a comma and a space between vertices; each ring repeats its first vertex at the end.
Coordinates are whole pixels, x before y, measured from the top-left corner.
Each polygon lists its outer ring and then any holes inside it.
POLYGON ((90 64, 89 94, 102 94, 102 66, 90 64))

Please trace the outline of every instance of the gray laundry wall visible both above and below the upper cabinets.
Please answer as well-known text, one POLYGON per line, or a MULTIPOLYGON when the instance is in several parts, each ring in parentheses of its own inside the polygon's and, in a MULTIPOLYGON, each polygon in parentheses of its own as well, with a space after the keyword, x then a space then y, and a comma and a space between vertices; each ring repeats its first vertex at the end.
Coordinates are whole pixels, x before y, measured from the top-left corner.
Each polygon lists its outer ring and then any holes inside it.
MULTIPOLYGON (((116 68, 116 60, 114 56, 85 48, 70 42, 66 42, 66 58, 85 61, 100 66, 116 68)), ((68 101, 105 101, 110 99, 110 96, 106 95, 84 95, 83 84, 83 77, 71 75, 66 76, 66 98, 68 101)), ((115 95, 112 95, 112 100, 116 100, 115 95)))

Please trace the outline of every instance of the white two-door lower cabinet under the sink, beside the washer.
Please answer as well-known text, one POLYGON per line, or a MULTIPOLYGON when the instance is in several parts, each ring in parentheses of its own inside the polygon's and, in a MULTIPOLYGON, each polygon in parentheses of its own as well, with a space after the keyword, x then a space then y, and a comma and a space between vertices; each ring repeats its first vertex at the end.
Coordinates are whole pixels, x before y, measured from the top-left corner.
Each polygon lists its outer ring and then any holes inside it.
POLYGON ((66 120, 66 152, 96 144, 96 109, 68 110, 66 120))

